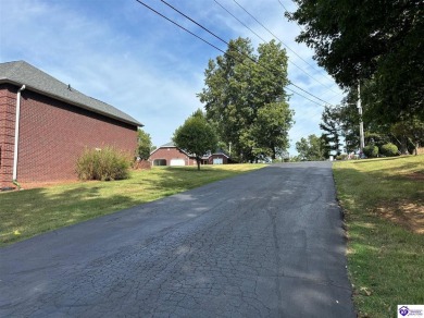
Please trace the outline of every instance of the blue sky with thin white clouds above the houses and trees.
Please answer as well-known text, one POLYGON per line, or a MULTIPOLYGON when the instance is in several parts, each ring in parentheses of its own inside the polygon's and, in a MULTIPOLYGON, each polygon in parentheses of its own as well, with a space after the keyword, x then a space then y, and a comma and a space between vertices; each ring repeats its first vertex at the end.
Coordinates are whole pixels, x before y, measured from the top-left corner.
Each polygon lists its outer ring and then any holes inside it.
MULTIPOLYGON (((225 44, 160 0, 142 1, 226 49, 225 44)), ((263 39, 273 39, 234 0, 216 1, 263 39)), ((262 41, 214 0, 167 2, 226 41, 239 36, 249 37, 254 47, 262 41)), ((312 60, 313 51, 295 41, 299 26, 287 22, 283 8, 294 11, 295 3, 290 0, 237 2, 276 35, 283 47, 290 48, 287 49, 288 77, 292 83, 329 103, 340 102, 342 91, 312 60)), ((24 60, 79 91, 125 111, 145 124, 144 130, 155 146, 170 142, 174 131, 196 109, 202 108, 196 94, 203 87, 203 72, 210 59, 222 54, 136 0, 0 0, 0 62, 24 60)), ((295 155, 295 144, 301 137, 321 134, 323 106, 296 94, 289 103, 296 112, 296 124, 289 132, 289 151, 295 155)))

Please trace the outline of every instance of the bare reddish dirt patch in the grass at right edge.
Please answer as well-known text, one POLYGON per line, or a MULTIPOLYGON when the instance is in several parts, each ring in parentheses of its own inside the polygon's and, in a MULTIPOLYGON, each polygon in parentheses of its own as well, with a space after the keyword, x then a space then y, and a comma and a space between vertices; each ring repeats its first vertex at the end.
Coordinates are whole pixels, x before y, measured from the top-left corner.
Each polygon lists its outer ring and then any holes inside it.
POLYGON ((410 231, 424 234, 424 203, 403 201, 377 208, 378 213, 410 231))

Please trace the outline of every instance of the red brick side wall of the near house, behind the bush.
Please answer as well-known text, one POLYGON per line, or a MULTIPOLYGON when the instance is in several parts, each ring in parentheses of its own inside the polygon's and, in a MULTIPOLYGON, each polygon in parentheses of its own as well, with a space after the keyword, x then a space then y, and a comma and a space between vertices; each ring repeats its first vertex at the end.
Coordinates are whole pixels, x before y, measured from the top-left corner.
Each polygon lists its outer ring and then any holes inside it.
MULTIPOLYGON (((0 100, 4 95, 3 89, 1 91, 0 100)), ((8 107, 13 108, 14 114, 17 87, 12 91, 14 96, 8 99, 8 107)), ((0 101, 0 105, 3 103, 0 101)), ((21 99, 17 181, 75 180, 75 161, 86 147, 115 146, 133 157, 137 147, 136 131, 134 125, 26 89, 21 99)), ((11 171, 3 173, 0 182, 10 180, 11 171)))

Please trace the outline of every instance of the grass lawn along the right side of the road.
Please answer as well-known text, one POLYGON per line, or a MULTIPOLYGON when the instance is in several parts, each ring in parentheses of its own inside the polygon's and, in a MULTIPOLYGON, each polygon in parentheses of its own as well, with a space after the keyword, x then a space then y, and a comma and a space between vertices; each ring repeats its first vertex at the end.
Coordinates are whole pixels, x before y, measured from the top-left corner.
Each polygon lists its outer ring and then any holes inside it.
POLYGON ((334 164, 360 317, 424 304, 424 156, 334 164))

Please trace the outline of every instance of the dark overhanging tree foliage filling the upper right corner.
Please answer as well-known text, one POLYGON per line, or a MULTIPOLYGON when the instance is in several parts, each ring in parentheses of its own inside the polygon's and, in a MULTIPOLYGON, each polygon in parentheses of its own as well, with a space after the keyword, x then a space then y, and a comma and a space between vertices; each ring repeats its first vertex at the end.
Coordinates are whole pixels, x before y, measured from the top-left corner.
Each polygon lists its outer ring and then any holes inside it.
POLYGON ((315 50, 319 65, 342 88, 374 85, 373 113, 391 123, 423 118, 424 12, 422 0, 295 0, 286 13, 304 26, 297 41, 315 50))

